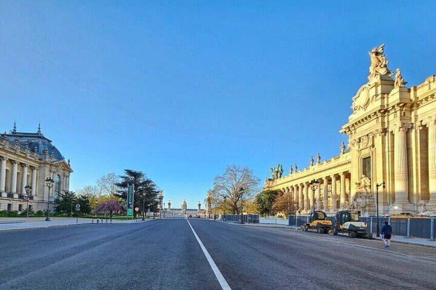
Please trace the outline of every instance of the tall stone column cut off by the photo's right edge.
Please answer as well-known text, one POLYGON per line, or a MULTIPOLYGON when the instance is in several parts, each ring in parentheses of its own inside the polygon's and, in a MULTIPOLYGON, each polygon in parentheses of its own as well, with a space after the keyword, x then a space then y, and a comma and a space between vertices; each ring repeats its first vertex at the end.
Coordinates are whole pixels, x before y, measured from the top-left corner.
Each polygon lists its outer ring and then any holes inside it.
POLYGON ((428 181, 430 201, 427 210, 436 211, 436 115, 429 117, 428 125, 428 181))

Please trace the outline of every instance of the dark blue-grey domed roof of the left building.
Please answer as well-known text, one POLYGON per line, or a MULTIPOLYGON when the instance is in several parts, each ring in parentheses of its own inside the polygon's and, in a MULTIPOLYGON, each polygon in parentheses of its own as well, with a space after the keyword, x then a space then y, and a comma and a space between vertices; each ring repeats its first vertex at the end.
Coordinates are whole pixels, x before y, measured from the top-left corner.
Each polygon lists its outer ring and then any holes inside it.
POLYGON ((44 137, 40 130, 36 133, 17 132, 11 131, 10 134, 3 134, 9 142, 18 142, 21 147, 29 148, 31 151, 37 152, 40 155, 47 151, 48 155, 54 156, 56 161, 63 160, 61 152, 53 144, 51 140, 44 137))

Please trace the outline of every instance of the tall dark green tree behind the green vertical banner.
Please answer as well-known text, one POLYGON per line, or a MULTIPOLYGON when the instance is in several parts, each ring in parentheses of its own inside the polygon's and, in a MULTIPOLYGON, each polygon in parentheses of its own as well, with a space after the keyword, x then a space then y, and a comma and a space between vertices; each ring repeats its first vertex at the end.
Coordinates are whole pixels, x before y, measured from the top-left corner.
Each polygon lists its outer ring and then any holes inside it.
POLYGON ((116 185, 121 188, 115 194, 122 199, 127 199, 127 187, 133 185, 134 194, 134 208, 138 207, 142 210, 142 204, 144 203, 144 210, 148 208, 150 211, 156 212, 158 206, 158 194, 159 190, 153 180, 147 178, 142 171, 135 171, 131 169, 125 169, 124 175, 120 176, 121 181, 116 185))

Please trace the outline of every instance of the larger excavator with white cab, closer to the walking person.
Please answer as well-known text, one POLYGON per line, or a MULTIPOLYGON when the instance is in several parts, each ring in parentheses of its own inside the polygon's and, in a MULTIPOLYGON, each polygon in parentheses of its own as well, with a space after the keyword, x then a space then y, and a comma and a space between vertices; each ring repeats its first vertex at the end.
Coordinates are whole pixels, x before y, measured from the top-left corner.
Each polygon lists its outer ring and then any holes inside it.
POLYGON ((359 222, 359 214, 351 210, 340 210, 336 213, 333 227, 329 230, 330 235, 346 236, 350 238, 362 237, 372 239, 368 233, 368 225, 359 222))

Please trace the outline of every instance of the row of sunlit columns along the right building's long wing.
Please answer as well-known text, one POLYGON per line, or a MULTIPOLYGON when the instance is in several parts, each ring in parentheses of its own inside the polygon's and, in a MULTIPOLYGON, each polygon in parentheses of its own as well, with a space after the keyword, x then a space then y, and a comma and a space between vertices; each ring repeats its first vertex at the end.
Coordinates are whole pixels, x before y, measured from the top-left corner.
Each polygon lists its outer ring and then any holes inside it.
MULTIPOLYGON (((346 206, 346 174, 347 172, 339 173, 340 176, 340 196, 339 196, 339 208, 344 208, 346 206)), ((321 200, 321 183, 319 183, 313 192, 309 182, 295 184, 290 187, 286 187, 283 189, 284 192, 288 192, 292 196, 294 200, 294 204, 297 206, 297 211, 311 211, 314 208, 316 210, 328 210, 331 209, 333 211, 337 210, 337 175, 334 174, 332 176, 327 176, 318 180, 324 181, 323 194, 324 198, 321 200), (329 180, 331 180, 331 192, 332 192, 332 206, 329 208, 329 192, 328 185, 329 180)))

